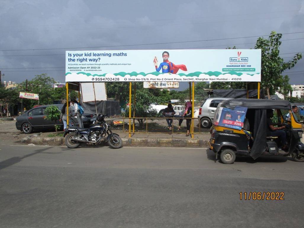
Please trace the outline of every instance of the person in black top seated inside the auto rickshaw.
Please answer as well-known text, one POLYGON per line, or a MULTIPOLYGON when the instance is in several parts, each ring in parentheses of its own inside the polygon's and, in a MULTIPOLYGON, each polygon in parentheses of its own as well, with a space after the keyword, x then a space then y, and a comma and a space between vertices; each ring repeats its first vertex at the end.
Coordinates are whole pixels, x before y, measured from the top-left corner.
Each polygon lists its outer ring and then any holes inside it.
POLYGON ((275 125, 281 125, 277 123, 273 123, 271 118, 273 117, 273 110, 267 109, 267 136, 278 136, 279 140, 282 143, 281 149, 286 150, 288 146, 286 145, 286 133, 282 129, 285 126, 275 127, 275 125))

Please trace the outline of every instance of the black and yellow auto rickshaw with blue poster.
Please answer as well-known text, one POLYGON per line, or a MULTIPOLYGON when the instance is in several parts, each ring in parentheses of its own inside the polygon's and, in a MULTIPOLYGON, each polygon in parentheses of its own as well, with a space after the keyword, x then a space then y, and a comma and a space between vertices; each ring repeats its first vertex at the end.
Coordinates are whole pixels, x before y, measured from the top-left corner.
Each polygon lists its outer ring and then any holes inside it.
POLYGON ((295 161, 303 162, 304 144, 300 142, 302 125, 291 109, 291 103, 285 100, 224 100, 215 112, 210 131, 210 149, 216 153, 216 158, 220 155, 224 164, 232 164, 236 156, 242 155, 250 155, 254 160, 261 155, 291 155, 295 161), (276 111, 272 122, 277 121, 278 125, 285 126, 287 146, 284 149, 281 149, 280 137, 267 136, 267 113, 271 110, 276 111), (288 112, 291 118, 283 119, 288 112))

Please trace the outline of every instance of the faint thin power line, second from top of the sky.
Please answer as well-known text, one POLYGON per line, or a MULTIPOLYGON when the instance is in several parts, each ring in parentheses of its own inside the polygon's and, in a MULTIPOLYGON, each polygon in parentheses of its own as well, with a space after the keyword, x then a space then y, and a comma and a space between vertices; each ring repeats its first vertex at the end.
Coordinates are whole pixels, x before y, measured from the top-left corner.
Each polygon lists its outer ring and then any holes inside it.
MULTIPOLYGON (((304 16, 304 15, 294 15, 304 16)), ((28 33, 28 32, 54 32, 54 31, 83 31, 83 30, 101 30, 101 29, 130 29, 130 28, 146 28, 146 27, 160 27, 160 26, 182 26, 182 25, 194 25, 194 24, 209 24, 219 22, 236 22, 236 21, 252 21, 252 20, 265 20, 265 19, 281 19, 293 16, 284 17, 269 17, 269 18, 255 18, 255 19, 238 19, 238 20, 225 20, 225 21, 212 21, 212 22, 191 22, 184 24, 161 24, 161 25, 145 25, 145 26, 126 26, 126 27, 108 27, 108 28, 88 28, 88 29, 55 29, 55 30, 32 30, 32 31, 0 31, 0 33, 28 33)))

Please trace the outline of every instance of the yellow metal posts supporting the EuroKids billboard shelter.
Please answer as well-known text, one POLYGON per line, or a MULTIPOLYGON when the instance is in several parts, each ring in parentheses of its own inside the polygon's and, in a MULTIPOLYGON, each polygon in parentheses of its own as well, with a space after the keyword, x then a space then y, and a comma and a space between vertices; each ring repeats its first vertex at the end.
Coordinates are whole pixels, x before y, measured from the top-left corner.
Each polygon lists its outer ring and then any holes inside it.
MULTIPOLYGON (((94 83, 94 82, 92 82, 94 83)), ((69 102, 69 89, 78 91, 78 100, 80 101, 80 82, 66 82, 67 102, 69 102)), ((257 99, 260 99, 260 82, 247 82, 247 98, 250 89, 257 89, 257 99)), ((95 93, 95 90, 94 90, 95 93)), ((96 100, 96 99, 95 99, 96 100)), ((194 81, 189 82, 189 100, 192 102, 192 118, 190 134, 194 138, 194 81), (192 84, 192 86, 191 86, 192 84)), ((129 82, 129 138, 131 138, 131 104, 132 104, 132 82, 129 82)), ((136 86, 134 87, 134 107, 136 107, 136 86)), ((67 107, 69 107, 67 105, 67 107)), ((67 125, 69 124, 69 109, 67 108, 67 125)), ((133 120, 135 118, 135 108, 133 111, 133 120)), ((134 128, 134 124, 133 124, 134 128)))

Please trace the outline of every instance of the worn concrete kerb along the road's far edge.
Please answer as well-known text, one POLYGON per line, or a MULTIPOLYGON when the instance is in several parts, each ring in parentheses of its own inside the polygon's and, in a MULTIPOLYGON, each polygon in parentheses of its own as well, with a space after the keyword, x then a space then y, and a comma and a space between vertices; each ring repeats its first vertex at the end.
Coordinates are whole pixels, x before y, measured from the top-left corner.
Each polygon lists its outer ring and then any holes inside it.
MULTIPOLYGON (((25 137, 20 143, 35 145, 60 146, 64 144, 63 137, 25 137)), ((201 139, 149 139, 149 138, 122 138, 123 146, 132 147, 209 147, 208 140, 201 139)), ((105 144, 104 142, 101 143, 105 144)))

